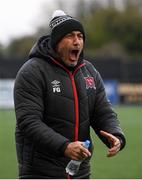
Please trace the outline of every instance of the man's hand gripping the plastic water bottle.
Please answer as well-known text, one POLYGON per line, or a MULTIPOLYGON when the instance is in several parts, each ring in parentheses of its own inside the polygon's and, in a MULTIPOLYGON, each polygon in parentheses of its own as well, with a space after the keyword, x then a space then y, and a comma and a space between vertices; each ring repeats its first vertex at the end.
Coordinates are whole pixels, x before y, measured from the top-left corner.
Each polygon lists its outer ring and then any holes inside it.
POLYGON ((83 147, 83 142, 75 141, 67 146, 65 150, 65 156, 73 160, 83 160, 87 157, 90 157, 91 153, 88 149, 83 147))

